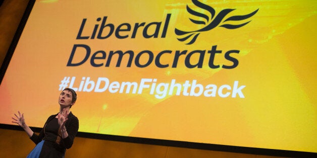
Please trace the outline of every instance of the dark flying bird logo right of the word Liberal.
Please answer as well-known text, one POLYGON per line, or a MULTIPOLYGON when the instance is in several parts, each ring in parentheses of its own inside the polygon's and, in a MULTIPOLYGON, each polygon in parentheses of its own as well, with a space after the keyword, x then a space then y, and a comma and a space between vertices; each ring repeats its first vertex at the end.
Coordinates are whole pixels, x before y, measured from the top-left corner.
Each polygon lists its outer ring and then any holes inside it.
POLYGON ((248 22, 245 22, 245 23, 242 23, 242 24, 238 24, 238 25, 233 25, 233 24, 223 24, 223 23, 228 23, 230 21, 242 21, 242 20, 245 20, 245 19, 248 19, 250 17, 252 17, 253 15, 255 15, 257 13, 257 10, 255 10, 254 12, 250 13, 250 14, 247 14, 247 15, 240 15, 240 16, 232 16, 232 17, 229 17, 227 18, 226 20, 223 21, 223 19, 232 11, 234 11, 235 9, 224 9, 222 10, 218 15, 216 15, 216 11, 213 7, 210 7, 208 5, 205 5, 197 0, 192 0, 193 4, 203 10, 206 10, 210 13, 211 17, 208 17, 207 15, 203 14, 203 13, 199 13, 199 12, 196 12, 194 10, 192 10, 191 8, 188 7, 188 5, 186 6, 186 9, 187 9, 187 12, 191 15, 194 15, 198 18, 203 18, 205 19, 205 21, 201 21, 201 20, 194 20, 194 19, 191 19, 189 18, 189 20, 194 23, 194 24, 197 24, 197 25, 204 25, 203 28, 199 29, 199 30, 195 30, 195 31, 182 31, 182 30, 179 30, 177 28, 175 28, 175 34, 178 35, 178 36, 182 36, 181 38, 177 38, 179 41, 181 42, 184 42, 184 41, 188 41, 190 40, 188 43, 186 44, 193 44, 198 35, 201 33, 201 32, 204 32, 204 31, 209 31, 209 30, 212 30, 214 28, 216 28, 217 26, 219 27, 224 27, 226 29, 237 29, 237 28, 240 28, 246 24, 248 24, 250 21, 248 22), (215 17, 216 16, 216 17, 215 17), (185 37, 184 37, 185 36, 185 37))

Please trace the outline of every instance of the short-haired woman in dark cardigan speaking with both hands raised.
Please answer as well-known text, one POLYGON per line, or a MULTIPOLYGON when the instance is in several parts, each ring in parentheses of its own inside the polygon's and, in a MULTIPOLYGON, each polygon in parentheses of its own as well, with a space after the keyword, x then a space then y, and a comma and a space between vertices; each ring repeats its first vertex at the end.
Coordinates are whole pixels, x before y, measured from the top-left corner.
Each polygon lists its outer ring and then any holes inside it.
POLYGON ((16 117, 12 117, 12 122, 21 126, 36 144, 27 157, 64 157, 66 149, 72 147, 79 128, 78 118, 70 111, 76 99, 74 90, 64 89, 59 97, 60 112, 48 117, 39 135, 25 123, 24 114, 20 111, 14 114, 16 117))

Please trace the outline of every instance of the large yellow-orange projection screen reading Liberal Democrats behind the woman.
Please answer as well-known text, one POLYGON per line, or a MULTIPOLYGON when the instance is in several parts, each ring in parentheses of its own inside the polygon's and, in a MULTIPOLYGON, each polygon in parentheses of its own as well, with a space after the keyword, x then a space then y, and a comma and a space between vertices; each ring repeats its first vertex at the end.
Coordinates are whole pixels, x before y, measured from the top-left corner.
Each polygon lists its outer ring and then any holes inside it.
POLYGON ((315 1, 87 2, 34 3, 1 124, 73 88, 80 132, 317 152, 315 1))

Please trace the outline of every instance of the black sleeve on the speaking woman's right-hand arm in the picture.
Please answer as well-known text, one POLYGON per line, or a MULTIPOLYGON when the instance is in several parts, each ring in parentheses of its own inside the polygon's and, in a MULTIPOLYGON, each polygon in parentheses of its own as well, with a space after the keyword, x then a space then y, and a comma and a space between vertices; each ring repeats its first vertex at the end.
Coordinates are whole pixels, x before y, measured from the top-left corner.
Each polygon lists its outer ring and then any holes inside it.
POLYGON ((71 120, 68 120, 68 124, 66 125, 66 130, 68 133, 68 137, 63 139, 65 147, 71 148, 77 134, 79 128, 79 121, 77 117, 73 117, 71 120))

